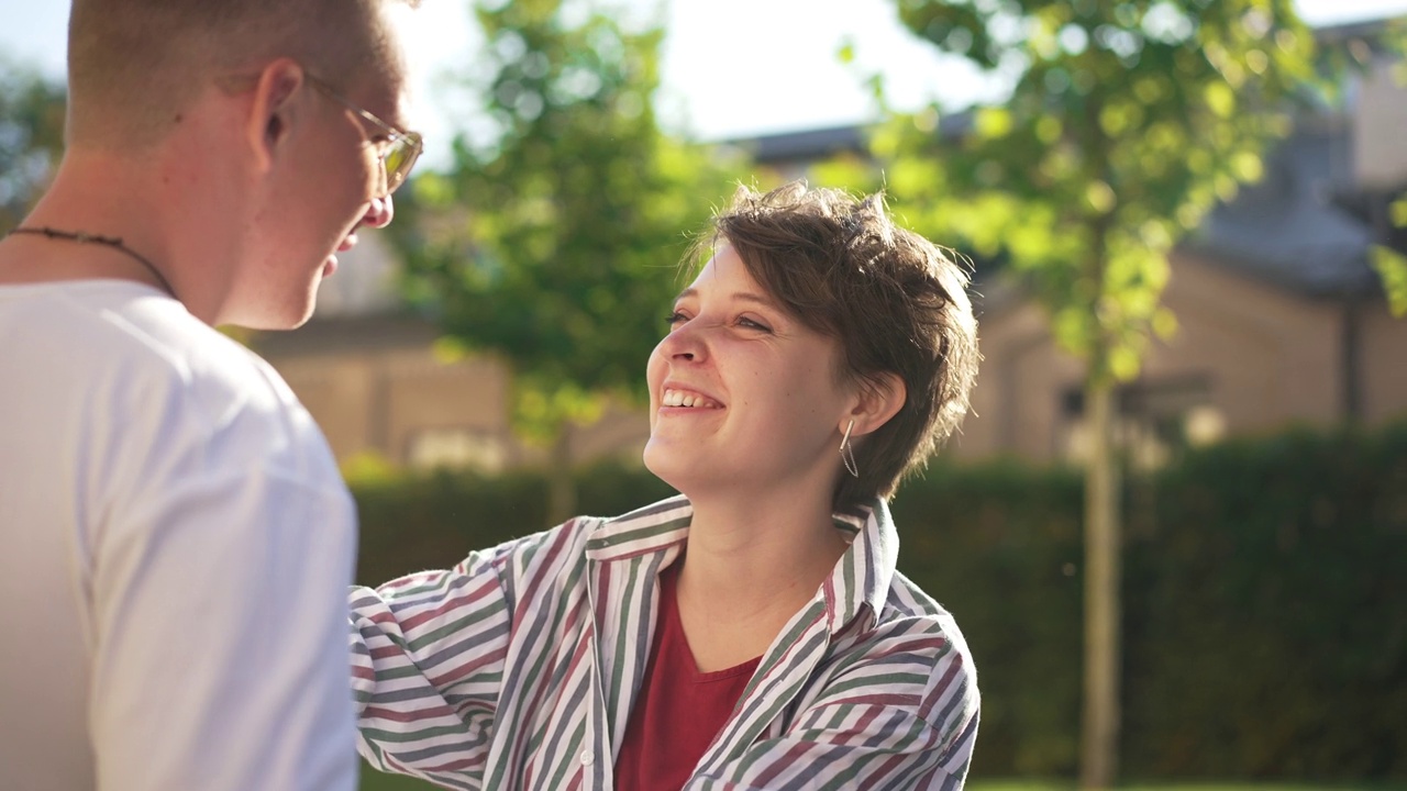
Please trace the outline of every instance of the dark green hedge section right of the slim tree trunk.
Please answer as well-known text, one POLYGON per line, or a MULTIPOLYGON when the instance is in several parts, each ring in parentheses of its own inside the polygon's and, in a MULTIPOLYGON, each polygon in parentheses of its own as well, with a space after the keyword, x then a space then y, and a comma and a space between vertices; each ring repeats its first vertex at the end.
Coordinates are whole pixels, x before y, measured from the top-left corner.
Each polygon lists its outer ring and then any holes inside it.
POLYGON ((1130 548, 1130 768, 1407 778, 1407 426, 1193 456, 1130 548))

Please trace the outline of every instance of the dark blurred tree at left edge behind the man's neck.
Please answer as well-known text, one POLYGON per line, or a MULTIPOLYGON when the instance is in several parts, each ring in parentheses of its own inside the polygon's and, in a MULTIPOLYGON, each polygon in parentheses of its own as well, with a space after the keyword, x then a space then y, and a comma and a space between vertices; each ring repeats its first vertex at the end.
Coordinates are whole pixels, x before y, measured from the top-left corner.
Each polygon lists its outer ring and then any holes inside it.
POLYGON ((63 151, 65 91, 0 62, 0 232, 24 220, 63 151))

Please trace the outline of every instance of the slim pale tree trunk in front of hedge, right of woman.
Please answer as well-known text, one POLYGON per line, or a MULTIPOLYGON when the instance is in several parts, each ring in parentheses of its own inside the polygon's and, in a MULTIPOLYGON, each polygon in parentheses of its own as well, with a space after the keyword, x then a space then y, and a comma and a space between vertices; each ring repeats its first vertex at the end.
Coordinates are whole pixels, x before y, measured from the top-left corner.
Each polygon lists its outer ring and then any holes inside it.
POLYGON ((1119 771, 1119 467, 1114 386, 1085 387, 1089 469, 1085 473, 1085 711, 1081 788, 1110 788, 1119 771))

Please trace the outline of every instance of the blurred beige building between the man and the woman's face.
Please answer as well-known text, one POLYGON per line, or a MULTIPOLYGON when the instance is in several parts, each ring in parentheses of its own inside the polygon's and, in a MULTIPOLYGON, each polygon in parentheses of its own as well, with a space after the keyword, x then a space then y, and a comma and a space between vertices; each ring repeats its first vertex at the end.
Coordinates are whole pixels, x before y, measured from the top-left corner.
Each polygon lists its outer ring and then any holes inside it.
MULTIPOLYGON (((509 369, 491 356, 446 355, 436 328, 402 310, 384 236, 362 231, 322 284, 314 318, 250 345, 288 381, 339 462, 376 456, 398 466, 499 472, 540 464, 546 449, 509 426, 509 369)), ((642 362, 642 370, 643 370, 642 362)), ((639 459, 642 414, 609 411, 570 441, 574 462, 639 459)))

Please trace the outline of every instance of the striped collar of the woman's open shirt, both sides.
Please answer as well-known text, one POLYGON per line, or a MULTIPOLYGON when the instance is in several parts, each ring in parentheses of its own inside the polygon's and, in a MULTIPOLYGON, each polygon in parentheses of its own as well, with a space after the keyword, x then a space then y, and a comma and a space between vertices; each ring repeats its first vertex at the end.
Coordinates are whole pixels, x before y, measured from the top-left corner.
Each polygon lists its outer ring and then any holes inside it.
MULTIPOLYGON (((688 538, 692 518, 689 501, 678 495, 605 519, 587 540, 587 559, 609 563, 675 549, 688 538)), ((837 512, 832 519, 837 528, 854 533, 854 539, 817 591, 826 600, 830 632, 839 632, 862 612, 872 626, 899 562, 899 533, 889 505, 875 498, 855 514, 837 512)))

